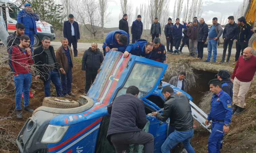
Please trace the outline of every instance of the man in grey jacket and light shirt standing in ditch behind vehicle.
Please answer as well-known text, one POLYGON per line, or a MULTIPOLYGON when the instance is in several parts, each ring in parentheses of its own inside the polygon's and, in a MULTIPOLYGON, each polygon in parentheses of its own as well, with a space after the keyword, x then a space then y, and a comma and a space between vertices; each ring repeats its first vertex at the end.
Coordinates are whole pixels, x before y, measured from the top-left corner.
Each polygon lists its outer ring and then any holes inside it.
POLYGON ((179 76, 172 77, 169 84, 178 87, 179 89, 187 92, 187 80, 185 79, 186 72, 180 72, 179 76))

